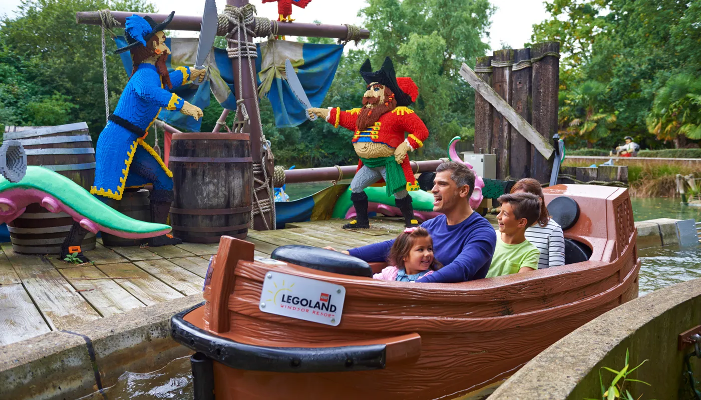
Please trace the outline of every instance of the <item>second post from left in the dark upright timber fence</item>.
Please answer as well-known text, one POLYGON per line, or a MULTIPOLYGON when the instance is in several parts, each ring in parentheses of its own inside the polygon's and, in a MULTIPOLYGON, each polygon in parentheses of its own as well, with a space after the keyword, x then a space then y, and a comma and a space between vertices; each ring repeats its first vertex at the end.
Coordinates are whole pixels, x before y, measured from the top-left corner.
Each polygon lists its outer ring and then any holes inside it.
MULTIPOLYGON (((491 87, 507 103, 511 102, 511 65, 514 60, 514 50, 496 50, 493 62, 505 63, 504 67, 494 67, 492 65, 491 87)), ((506 179, 509 176, 509 150, 511 142, 511 125, 502 113, 495 112, 492 118, 491 147, 496 153, 496 179, 506 179)))

